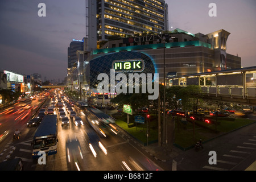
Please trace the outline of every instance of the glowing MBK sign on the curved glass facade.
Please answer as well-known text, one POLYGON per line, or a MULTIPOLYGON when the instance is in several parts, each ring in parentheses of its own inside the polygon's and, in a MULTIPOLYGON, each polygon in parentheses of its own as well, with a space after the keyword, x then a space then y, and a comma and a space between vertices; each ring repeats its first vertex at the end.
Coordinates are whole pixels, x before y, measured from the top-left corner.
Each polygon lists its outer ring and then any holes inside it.
POLYGON ((138 60, 117 60, 113 61, 112 68, 115 72, 141 72, 144 69, 144 61, 138 60))

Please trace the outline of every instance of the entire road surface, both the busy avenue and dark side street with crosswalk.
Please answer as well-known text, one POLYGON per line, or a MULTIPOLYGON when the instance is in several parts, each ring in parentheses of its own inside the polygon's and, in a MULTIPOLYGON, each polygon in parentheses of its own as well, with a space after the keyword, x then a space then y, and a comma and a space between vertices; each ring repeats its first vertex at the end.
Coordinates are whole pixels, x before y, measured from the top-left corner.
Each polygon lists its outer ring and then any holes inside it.
MULTIPOLYGON (((40 101, 36 98, 30 105, 35 108, 50 104, 50 98, 40 101)), ((29 171, 170 171, 174 169, 174 164, 178 171, 224 171, 245 170, 256 160, 256 123, 205 143, 204 149, 199 152, 178 151, 174 160, 159 162, 147 154, 138 142, 128 138, 129 135, 119 127, 114 133, 110 130, 112 127, 103 125, 101 129, 108 137, 101 137, 88 122, 96 123, 96 116, 83 113, 75 107, 73 109, 84 125, 76 126, 64 109, 70 125, 61 127, 59 114, 55 110, 59 142, 57 154, 47 156, 46 164, 39 164, 38 159, 32 159, 31 142, 38 126, 27 127, 26 123, 35 110, 32 113, 30 109, 10 113, 1 111, 0 162, 6 158, 21 158, 24 170, 29 171), (15 129, 22 131, 22 135, 20 140, 13 142, 15 129), (217 164, 209 164, 209 151, 216 151, 217 164)), ((251 119, 255 119, 255 116, 251 119)))

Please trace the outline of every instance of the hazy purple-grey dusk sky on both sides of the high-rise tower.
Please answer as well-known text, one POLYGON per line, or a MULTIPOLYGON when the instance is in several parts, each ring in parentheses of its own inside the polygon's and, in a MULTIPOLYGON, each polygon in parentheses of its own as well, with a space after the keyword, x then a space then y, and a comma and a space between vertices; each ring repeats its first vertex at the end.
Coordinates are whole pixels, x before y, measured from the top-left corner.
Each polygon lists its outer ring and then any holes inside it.
MULTIPOLYGON (((167 0, 169 26, 196 34, 224 29, 231 34, 227 52, 242 58, 242 67, 256 65, 255 0, 167 0), (217 16, 208 7, 216 3, 217 16)), ((0 70, 42 80, 64 80, 68 47, 85 36, 85 0, 0 0, 0 70), (46 4, 46 17, 38 4, 46 4)))

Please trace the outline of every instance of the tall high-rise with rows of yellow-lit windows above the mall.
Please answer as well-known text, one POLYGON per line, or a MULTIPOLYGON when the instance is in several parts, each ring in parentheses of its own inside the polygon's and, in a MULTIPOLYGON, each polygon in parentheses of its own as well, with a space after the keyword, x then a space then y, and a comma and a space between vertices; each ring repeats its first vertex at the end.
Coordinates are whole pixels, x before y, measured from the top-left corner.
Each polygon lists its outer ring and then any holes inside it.
POLYGON ((164 0, 97 0, 97 40, 112 35, 125 38, 143 32, 159 34, 166 30, 168 5, 164 0))

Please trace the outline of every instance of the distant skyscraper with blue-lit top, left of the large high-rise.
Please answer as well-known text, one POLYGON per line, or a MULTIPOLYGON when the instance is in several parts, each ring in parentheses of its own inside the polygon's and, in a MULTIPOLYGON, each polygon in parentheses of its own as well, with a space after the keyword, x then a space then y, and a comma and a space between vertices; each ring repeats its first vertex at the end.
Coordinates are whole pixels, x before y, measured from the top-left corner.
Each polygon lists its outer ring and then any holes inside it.
POLYGON ((77 62, 76 51, 84 51, 84 40, 74 40, 68 47, 68 68, 72 68, 77 62))

